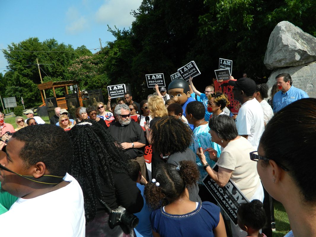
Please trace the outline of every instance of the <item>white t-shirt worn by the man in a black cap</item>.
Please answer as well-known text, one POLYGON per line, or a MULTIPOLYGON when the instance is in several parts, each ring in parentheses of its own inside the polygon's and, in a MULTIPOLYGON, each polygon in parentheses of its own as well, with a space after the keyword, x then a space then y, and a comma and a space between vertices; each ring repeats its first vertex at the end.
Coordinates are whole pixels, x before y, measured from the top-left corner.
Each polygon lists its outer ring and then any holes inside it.
POLYGON ((258 100, 253 98, 244 103, 238 112, 236 126, 239 135, 248 135, 248 141, 258 149, 264 131, 263 111, 258 100))

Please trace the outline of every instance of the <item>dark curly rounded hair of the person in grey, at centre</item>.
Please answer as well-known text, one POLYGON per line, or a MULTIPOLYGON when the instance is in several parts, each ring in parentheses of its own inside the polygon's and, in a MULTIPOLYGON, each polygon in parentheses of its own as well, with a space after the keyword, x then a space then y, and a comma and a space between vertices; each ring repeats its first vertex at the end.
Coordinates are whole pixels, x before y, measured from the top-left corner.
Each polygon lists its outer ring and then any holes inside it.
POLYGON ((152 146, 158 153, 184 152, 191 144, 192 130, 173 116, 159 119, 150 129, 152 129, 152 146))

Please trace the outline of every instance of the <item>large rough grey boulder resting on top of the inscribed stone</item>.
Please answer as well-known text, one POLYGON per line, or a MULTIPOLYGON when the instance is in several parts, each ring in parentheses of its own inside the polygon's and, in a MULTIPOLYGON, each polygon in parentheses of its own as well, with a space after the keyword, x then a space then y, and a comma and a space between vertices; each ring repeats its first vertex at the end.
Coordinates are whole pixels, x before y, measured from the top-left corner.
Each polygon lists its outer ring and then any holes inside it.
POLYGON ((279 22, 270 34, 265 52, 264 65, 267 69, 299 66, 315 61, 316 38, 289 21, 279 22))

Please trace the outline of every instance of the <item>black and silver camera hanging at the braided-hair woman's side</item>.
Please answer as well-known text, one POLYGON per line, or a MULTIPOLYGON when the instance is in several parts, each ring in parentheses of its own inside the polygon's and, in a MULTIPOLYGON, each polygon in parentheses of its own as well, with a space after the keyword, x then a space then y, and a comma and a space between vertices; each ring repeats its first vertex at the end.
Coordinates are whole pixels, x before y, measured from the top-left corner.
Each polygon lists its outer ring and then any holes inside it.
POLYGON ((113 229, 116 225, 123 223, 128 227, 135 228, 139 222, 137 216, 126 211, 122 206, 119 206, 117 209, 112 210, 109 216, 109 226, 113 229))

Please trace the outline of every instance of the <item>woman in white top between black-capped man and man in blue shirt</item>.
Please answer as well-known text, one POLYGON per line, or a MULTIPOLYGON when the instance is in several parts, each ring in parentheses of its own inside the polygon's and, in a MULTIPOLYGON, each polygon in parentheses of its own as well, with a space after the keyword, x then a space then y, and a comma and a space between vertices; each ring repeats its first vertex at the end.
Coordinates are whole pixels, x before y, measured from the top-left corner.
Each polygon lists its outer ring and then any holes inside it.
POLYGON ((264 98, 268 98, 268 89, 269 88, 267 84, 260 84, 257 85, 256 92, 253 94, 253 97, 258 100, 262 107, 264 126, 266 126, 270 119, 273 117, 273 110, 271 106, 266 100, 264 100, 264 98))

